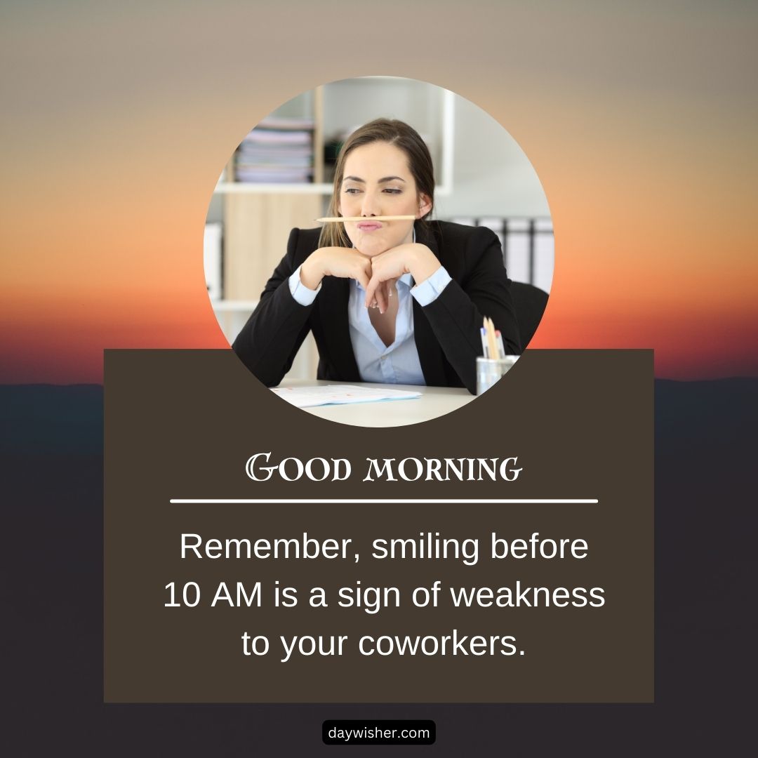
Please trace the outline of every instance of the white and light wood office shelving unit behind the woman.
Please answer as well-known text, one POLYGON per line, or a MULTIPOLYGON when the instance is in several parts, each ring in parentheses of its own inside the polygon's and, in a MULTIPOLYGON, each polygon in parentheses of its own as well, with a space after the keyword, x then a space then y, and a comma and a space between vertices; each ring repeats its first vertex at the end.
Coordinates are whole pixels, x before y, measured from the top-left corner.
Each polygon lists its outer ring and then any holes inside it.
MULTIPOLYGON (((455 96, 445 89, 399 77, 340 80, 305 92, 277 108, 272 117, 312 121, 313 178, 308 183, 253 183, 232 180, 232 159, 215 188, 221 202, 224 299, 214 308, 224 318, 242 315, 240 303, 260 296, 287 249, 293 227, 315 227, 324 215, 333 185, 324 166, 327 143, 339 141, 377 117, 399 118, 427 140, 437 174, 437 196, 453 186, 455 96)), ((251 309, 252 310, 252 309, 251 309)), ((228 327, 233 325, 228 322, 228 327)))

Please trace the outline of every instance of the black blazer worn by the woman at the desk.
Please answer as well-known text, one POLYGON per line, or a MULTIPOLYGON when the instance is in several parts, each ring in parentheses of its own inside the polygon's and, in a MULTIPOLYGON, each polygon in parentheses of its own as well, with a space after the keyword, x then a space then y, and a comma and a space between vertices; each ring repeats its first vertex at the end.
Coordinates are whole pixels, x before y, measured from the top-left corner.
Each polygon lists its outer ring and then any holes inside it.
MULTIPOLYGON (((416 242, 431 249, 453 278, 434 302, 413 301, 413 332, 426 384, 476 392, 476 357, 482 355, 483 317, 503 335, 509 355, 521 352, 518 326, 496 234, 446 221, 416 222, 416 242)), ((288 280, 318 248, 319 229, 293 229, 285 255, 266 283, 258 307, 233 343, 243 363, 267 387, 290 370, 312 330, 318 346, 318 379, 359 382, 347 306, 349 279, 324 277, 312 305, 293 299, 288 280)))

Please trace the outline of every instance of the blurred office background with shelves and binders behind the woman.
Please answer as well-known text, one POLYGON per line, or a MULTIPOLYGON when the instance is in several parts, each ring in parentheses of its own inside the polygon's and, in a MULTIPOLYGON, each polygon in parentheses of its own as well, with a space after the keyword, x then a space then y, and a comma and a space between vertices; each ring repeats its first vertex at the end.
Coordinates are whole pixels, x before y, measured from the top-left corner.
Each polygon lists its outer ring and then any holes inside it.
MULTIPOLYGON (((478 106, 431 84, 340 80, 277 108, 221 173, 205 227, 205 276, 229 342, 255 308, 290 230, 315 227, 325 214, 340 143, 377 117, 406 121, 428 144, 437 181, 432 218, 490 227, 500 236, 509 277, 550 292, 550 210, 509 133, 478 106)), ((288 377, 315 377, 315 362, 309 337, 288 377)))

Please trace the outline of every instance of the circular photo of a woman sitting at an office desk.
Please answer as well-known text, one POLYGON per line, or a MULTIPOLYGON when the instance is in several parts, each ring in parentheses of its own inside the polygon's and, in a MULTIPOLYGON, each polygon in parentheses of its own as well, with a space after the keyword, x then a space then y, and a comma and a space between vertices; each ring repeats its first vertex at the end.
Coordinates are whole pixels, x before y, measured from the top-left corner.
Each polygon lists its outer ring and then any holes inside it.
POLYGON ((366 427, 493 387, 537 330, 553 263, 547 199, 515 140, 399 77, 328 83, 265 117, 205 226, 208 295, 243 364, 284 401, 366 427))

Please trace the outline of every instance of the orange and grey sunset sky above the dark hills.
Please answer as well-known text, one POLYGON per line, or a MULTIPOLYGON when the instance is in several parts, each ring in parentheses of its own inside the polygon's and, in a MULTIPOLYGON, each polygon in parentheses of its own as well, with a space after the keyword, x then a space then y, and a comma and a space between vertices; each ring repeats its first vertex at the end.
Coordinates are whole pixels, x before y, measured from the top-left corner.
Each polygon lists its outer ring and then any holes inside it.
POLYGON ((367 74, 452 89, 530 158, 556 235, 531 346, 758 373, 753 3, 5 2, 2 30, 2 382, 226 347, 202 272, 221 168, 282 102, 367 74))

